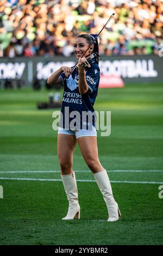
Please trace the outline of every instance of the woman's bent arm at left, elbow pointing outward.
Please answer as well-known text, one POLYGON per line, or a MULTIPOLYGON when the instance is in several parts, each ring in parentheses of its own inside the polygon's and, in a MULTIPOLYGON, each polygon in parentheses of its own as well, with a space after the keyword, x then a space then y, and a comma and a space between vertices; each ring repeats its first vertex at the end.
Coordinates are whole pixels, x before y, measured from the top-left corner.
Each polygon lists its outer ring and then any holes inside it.
POLYGON ((68 66, 61 66, 60 69, 55 71, 51 76, 49 76, 47 83, 50 85, 61 83, 61 78, 59 77, 62 72, 65 73, 65 76, 68 78, 71 74, 72 69, 68 66))

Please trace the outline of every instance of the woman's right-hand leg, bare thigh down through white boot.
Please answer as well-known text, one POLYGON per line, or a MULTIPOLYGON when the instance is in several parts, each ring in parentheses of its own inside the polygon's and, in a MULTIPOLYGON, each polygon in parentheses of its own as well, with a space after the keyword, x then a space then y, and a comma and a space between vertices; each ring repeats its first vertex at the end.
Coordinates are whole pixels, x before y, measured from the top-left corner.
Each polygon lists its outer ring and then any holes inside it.
POLYGON ((108 221, 117 221, 120 216, 120 210, 112 195, 108 174, 98 159, 97 138, 95 136, 79 137, 78 144, 84 160, 91 169, 99 190, 103 194, 109 214, 108 221))

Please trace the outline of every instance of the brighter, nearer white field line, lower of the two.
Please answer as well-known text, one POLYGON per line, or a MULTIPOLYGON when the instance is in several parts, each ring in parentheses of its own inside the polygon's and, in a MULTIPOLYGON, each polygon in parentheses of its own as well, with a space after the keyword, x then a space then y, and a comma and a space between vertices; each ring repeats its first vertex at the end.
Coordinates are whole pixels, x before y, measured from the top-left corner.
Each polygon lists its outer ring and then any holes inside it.
MULTIPOLYGON (((0 180, 34 180, 34 181, 62 181, 61 179, 34 179, 34 178, 5 178, 0 177, 0 180)), ((95 180, 77 180, 79 182, 96 182, 95 180)), ((163 184, 158 181, 125 181, 125 180, 110 180, 111 183, 134 183, 134 184, 163 184)))

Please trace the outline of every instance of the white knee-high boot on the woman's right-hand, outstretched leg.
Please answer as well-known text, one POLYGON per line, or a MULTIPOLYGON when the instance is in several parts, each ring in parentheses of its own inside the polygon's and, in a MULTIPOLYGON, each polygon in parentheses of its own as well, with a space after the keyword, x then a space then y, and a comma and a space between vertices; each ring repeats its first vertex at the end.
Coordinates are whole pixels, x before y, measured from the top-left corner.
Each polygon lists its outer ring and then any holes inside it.
POLYGON ((101 172, 95 173, 93 175, 95 177, 99 190, 103 194, 103 198, 108 209, 108 221, 118 221, 121 213, 118 209, 118 204, 115 202, 115 199, 112 195, 110 180, 108 174, 106 173, 106 170, 102 170, 101 172))

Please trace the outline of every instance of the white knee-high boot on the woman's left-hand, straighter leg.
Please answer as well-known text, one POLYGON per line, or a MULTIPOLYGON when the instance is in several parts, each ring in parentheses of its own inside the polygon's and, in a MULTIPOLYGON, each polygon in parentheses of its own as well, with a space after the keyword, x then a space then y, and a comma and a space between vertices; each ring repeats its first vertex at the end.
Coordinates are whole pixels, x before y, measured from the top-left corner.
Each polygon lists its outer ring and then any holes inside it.
POLYGON ((62 220, 73 220, 74 218, 80 218, 80 205, 78 202, 78 190, 75 173, 73 172, 72 174, 61 175, 61 179, 64 184, 69 203, 67 215, 65 218, 62 218, 62 220))

